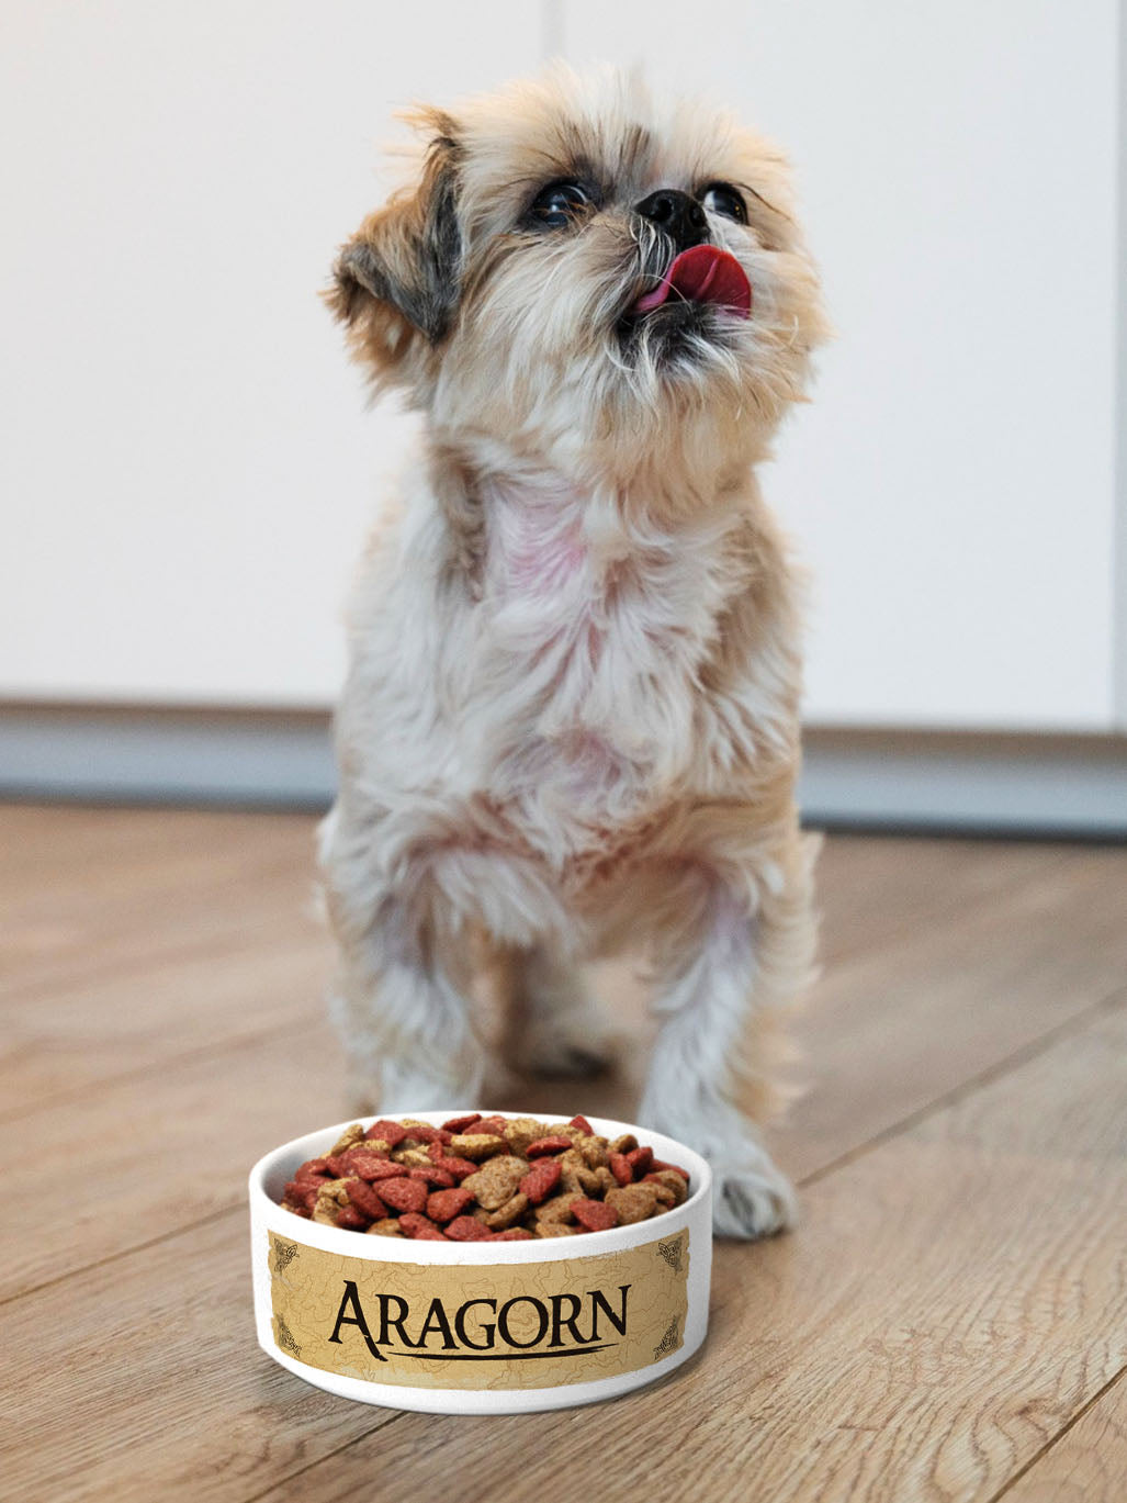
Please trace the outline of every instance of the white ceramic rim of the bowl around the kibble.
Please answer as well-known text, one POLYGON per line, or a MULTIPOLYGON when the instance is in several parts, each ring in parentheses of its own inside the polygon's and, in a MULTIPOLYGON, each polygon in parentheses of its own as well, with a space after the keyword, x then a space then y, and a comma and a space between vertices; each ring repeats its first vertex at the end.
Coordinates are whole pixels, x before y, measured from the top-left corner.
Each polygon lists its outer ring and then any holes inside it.
MULTIPOLYGON (((251 1169, 248 1181, 251 1214, 252 1217, 261 1217, 267 1228, 278 1232, 278 1235, 305 1243, 307 1246, 320 1247, 325 1252, 344 1254, 346 1257, 362 1258, 371 1263, 554 1263, 564 1258, 586 1258, 604 1252, 621 1252, 625 1247, 634 1247, 660 1237, 661 1228, 669 1228, 669 1234, 672 1235, 673 1231, 679 1231, 690 1219, 696 1219, 693 1214, 696 1208, 711 1198, 712 1169, 708 1160, 687 1144, 655 1132, 651 1127, 640 1127, 637 1123, 624 1123, 610 1117, 592 1117, 588 1112, 583 1115, 600 1136, 619 1138, 622 1133, 630 1132, 640 1142, 652 1144, 655 1157, 682 1163, 690 1171, 690 1184, 696 1186, 693 1193, 681 1205, 673 1205, 670 1210, 663 1211, 661 1216, 649 1216, 646 1220, 630 1222, 625 1226, 612 1226, 607 1231, 586 1231, 576 1232, 571 1237, 533 1237, 514 1241, 428 1241, 412 1237, 359 1235, 343 1226, 326 1226, 322 1222, 307 1220, 304 1216, 295 1216, 293 1211, 284 1210, 281 1202, 267 1189, 269 1181, 273 1180, 276 1184, 281 1180, 284 1183, 284 1180, 293 1175, 299 1163, 325 1153, 346 1127, 350 1127, 353 1123, 359 1121, 367 1129, 382 1118, 413 1118, 415 1121, 437 1127, 451 1117, 466 1117, 472 1111, 476 1111, 476 1108, 425 1112, 374 1112, 364 1117, 349 1117, 332 1127, 320 1127, 304 1133, 301 1138, 292 1138, 289 1142, 279 1144, 276 1148, 264 1153, 251 1169), (661 1145, 660 1151, 658 1144, 661 1145), (672 1223, 670 1217, 675 1219, 672 1223), (289 1229, 290 1222, 295 1223, 292 1231, 289 1229)), ((508 1108, 482 1112, 482 1115, 506 1117, 509 1120, 518 1117, 536 1117, 541 1121, 559 1120, 559 1112, 512 1111, 508 1108)), ((706 1219, 711 1229, 711 1214, 706 1219)))

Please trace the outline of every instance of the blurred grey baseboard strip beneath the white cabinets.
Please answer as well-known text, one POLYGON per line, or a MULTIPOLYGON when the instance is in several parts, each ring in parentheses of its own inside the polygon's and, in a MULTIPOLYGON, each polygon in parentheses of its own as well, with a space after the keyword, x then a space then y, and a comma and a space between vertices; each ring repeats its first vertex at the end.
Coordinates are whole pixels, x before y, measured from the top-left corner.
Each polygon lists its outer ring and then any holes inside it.
MULTIPOLYGON (((323 809, 323 711, 9 705, 0 797, 323 809)), ((811 825, 1122 839, 1127 738, 829 730, 805 738, 811 825)))

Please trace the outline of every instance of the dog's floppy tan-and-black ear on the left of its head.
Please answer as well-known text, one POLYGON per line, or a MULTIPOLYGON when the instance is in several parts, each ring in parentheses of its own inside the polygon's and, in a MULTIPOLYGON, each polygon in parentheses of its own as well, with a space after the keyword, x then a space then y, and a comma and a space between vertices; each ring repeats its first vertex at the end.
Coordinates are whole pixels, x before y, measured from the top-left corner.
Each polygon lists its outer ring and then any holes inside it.
POLYGON ((376 377, 394 377, 421 344, 440 344, 458 305, 458 141, 449 116, 434 111, 419 120, 436 132, 422 182, 368 215, 341 246, 325 295, 376 377))

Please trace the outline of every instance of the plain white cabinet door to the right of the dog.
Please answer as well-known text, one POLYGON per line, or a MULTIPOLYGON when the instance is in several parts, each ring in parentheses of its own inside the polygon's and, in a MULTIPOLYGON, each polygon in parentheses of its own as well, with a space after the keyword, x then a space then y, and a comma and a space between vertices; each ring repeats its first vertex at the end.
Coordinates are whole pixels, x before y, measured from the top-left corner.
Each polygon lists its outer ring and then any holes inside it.
POLYGON ((837 343, 765 475, 808 718, 1112 723, 1115 0, 567 0, 790 152, 837 343))

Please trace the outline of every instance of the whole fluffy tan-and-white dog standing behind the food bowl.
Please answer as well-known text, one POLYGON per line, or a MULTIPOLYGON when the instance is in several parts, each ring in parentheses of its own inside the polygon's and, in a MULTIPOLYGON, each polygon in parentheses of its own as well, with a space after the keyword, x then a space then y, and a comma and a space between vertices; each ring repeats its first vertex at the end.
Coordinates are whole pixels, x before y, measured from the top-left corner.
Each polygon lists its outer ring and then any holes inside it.
POLYGON ((813 950, 795 585, 756 466, 822 332, 784 162, 610 69, 424 110, 326 295, 425 415, 364 561, 322 867, 335 1015, 383 1111, 479 1103, 475 968, 517 1058, 591 1067, 582 962, 648 945, 639 1121, 784 1226, 763 1021, 813 950))

